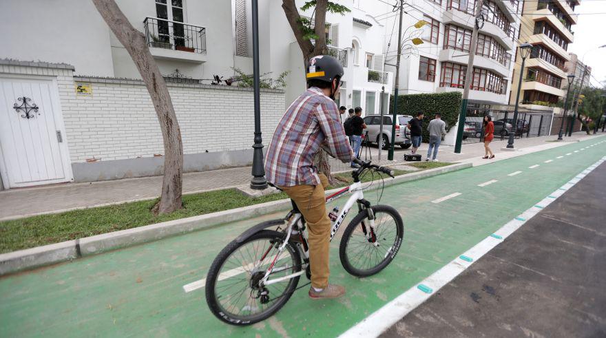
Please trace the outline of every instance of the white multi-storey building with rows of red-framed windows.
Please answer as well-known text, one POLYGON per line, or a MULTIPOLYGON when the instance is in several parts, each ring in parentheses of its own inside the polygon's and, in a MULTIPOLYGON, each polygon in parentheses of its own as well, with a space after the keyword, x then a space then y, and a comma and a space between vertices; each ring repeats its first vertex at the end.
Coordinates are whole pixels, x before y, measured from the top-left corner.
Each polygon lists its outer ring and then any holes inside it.
MULTIPOLYGON (((404 39, 415 36, 415 23, 426 21, 421 30, 421 45, 407 42, 401 59, 400 94, 463 92, 470 52, 474 69, 470 107, 507 105, 510 94, 512 59, 518 41, 521 1, 483 1, 483 20, 478 43, 470 51, 474 8, 477 2, 466 0, 414 0, 405 4, 404 39)), ((391 12, 389 5, 377 12, 391 12)), ((387 70, 395 71, 397 56, 397 15, 379 16, 386 21, 387 70)), ((504 109, 507 109, 506 107, 504 109)), ((454 129, 445 142, 454 143, 454 129)))

